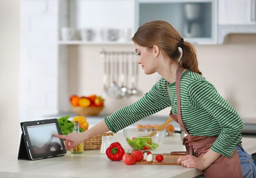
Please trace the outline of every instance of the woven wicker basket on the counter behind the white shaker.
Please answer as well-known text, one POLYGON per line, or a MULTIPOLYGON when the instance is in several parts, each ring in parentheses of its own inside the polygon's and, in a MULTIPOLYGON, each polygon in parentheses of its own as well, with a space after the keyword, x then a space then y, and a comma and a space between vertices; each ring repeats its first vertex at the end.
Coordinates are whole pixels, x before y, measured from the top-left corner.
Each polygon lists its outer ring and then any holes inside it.
POLYGON ((113 132, 106 132, 84 141, 84 150, 96 150, 101 148, 102 137, 113 135, 113 132))

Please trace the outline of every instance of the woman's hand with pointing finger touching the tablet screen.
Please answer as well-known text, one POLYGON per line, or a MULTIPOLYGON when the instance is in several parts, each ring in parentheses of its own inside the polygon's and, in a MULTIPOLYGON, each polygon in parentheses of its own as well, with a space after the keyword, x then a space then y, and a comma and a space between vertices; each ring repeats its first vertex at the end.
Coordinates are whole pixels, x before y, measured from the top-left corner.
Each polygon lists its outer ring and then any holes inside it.
POLYGON ((53 134, 53 136, 64 139, 67 150, 74 148, 76 145, 81 144, 82 142, 84 142, 84 140, 87 139, 86 132, 73 132, 69 133, 68 135, 53 134))

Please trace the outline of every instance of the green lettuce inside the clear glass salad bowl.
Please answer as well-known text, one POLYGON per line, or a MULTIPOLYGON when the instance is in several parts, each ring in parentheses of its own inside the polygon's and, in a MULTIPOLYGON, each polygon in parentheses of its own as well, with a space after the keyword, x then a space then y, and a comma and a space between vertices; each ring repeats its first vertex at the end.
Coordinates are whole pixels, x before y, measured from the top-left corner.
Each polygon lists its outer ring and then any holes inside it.
POLYGON ((151 138, 134 138, 133 140, 126 138, 126 141, 134 149, 145 149, 144 146, 156 149, 159 146, 159 144, 153 143, 151 138))

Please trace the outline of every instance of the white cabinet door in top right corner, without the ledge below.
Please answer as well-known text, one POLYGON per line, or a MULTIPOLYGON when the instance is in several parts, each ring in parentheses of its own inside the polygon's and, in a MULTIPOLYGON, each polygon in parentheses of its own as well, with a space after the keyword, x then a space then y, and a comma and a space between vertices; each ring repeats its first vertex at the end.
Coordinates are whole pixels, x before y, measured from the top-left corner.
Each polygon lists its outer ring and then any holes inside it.
POLYGON ((219 0, 219 25, 256 25, 256 0, 219 0))

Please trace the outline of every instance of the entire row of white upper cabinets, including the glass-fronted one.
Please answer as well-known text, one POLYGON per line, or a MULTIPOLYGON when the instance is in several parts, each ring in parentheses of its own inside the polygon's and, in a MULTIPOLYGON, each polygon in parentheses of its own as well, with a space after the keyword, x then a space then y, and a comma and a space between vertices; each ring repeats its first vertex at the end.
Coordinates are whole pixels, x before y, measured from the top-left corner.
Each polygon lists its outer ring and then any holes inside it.
POLYGON ((256 0, 59 1, 68 7, 60 7, 60 27, 77 32, 75 39, 60 44, 132 44, 137 28, 152 20, 169 22, 184 40, 197 44, 221 44, 230 33, 256 33, 256 0), (84 29, 93 29, 95 40, 87 41, 84 29), (106 40, 112 34, 118 40, 106 40))

